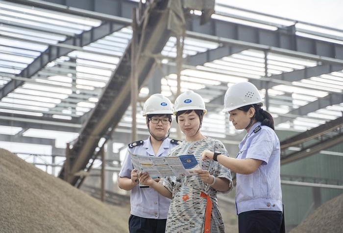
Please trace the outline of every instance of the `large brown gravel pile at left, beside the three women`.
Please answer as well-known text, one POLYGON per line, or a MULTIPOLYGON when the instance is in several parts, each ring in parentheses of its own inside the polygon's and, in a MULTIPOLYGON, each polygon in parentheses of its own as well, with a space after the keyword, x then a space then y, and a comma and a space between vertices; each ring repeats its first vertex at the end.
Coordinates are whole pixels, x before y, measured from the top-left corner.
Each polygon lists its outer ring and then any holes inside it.
POLYGON ((121 207, 109 207, 0 149, 0 232, 123 233, 127 218, 121 207))

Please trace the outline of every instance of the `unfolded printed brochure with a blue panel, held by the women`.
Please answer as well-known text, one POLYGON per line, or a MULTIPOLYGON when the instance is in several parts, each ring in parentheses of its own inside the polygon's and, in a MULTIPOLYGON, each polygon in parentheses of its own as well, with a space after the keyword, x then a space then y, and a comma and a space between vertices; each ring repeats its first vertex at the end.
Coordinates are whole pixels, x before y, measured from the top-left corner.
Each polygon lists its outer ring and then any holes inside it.
POLYGON ((138 172, 147 172, 150 177, 193 176, 201 169, 194 155, 154 157, 131 154, 131 161, 138 172))

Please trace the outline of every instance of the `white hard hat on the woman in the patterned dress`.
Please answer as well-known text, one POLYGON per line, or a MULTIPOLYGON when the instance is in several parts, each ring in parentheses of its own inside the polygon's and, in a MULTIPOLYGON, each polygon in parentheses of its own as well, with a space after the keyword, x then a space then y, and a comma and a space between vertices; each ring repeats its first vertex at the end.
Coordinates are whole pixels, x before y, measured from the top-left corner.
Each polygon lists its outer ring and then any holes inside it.
POLYGON ((173 114, 176 115, 177 112, 184 110, 203 110, 206 114, 205 102, 199 94, 186 91, 177 96, 173 114))

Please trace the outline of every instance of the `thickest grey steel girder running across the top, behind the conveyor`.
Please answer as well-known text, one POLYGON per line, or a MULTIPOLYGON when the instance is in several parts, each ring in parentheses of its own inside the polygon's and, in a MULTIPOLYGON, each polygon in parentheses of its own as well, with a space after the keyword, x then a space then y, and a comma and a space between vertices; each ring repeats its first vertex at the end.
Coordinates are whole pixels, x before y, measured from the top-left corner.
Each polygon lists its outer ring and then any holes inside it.
MULTIPOLYGON (((108 19, 102 18, 105 20, 109 20, 111 15, 131 18, 131 8, 138 7, 137 2, 132 2, 129 0, 113 0, 111 1, 113 7, 107 7, 107 4, 101 4, 102 0, 94 0, 94 5, 87 4, 80 0, 75 0, 73 3, 70 1, 59 2, 68 7, 49 4, 46 1, 38 2, 32 0, 16 0, 15 2, 54 9, 66 13, 79 14, 82 16, 88 15, 96 19, 101 19, 101 16, 108 16, 108 19), (80 8, 79 11, 77 11, 76 8, 70 8, 75 6, 80 8), (123 6, 126 6, 126 9, 124 9, 123 6), (85 9, 86 11, 82 11, 82 9, 85 9)), ((55 3, 53 0, 49 0, 49 2, 55 3)), ((294 30, 292 30, 292 28, 282 28, 273 31, 216 19, 211 19, 208 23, 200 25, 200 17, 193 16, 191 21, 187 22, 187 30, 187 36, 190 37, 201 37, 201 34, 205 34, 218 37, 218 39, 231 39, 231 42, 235 43, 236 46, 257 48, 262 50, 270 50, 272 47, 275 47, 301 52, 303 53, 302 55, 313 54, 328 58, 343 59, 343 45, 300 37, 294 34, 294 30), (259 47, 257 45, 261 46, 259 47)), ((210 37, 207 37, 207 39, 210 39, 210 37)), ((214 38, 212 38, 212 40, 213 39, 214 38)), ((226 40, 226 43, 229 41, 230 40, 226 40)), ((282 50, 279 50, 279 52, 282 52, 282 50)), ((298 55, 300 56, 301 54, 299 53, 298 55)))

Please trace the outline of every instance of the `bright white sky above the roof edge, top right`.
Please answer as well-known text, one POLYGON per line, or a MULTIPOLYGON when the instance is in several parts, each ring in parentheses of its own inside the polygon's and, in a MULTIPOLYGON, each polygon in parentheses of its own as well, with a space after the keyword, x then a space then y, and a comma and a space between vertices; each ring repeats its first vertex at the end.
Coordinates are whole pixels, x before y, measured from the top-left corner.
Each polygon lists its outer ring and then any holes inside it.
POLYGON ((343 29, 343 0, 216 0, 231 6, 343 29))

